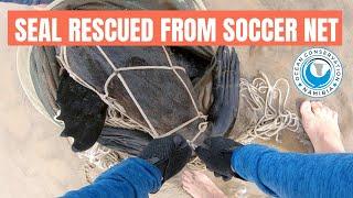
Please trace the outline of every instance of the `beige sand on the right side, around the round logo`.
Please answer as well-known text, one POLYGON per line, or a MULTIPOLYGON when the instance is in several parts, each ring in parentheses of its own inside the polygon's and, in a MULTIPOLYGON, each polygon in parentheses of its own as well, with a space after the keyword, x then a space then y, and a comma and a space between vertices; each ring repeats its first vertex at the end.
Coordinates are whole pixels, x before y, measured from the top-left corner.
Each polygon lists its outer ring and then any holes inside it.
MULTIPOLYGON (((353 133, 352 133, 352 63, 353 56, 351 50, 353 46, 352 40, 352 9, 353 2, 351 0, 313 0, 313 1, 296 1, 296 0, 248 0, 248 1, 208 1, 208 8, 215 10, 343 10, 343 45, 335 47, 327 47, 338 55, 343 64, 343 80, 340 88, 331 96, 321 99, 325 105, 336 110, 340 114, 340 128, 343 134, 343 143, 347 151, 353 150, 353 133)), ((290 82, 291 92, 288 100, 288 108, 298 112, 299 101, 308 99, 293 85, 291 80, 292 64, 295 59, 310 46, 246 46, 236 47, 240 59, 242 77, 253 79, 258 75, 258 70, 263 70, 268 75, 270 80, 287 78, 290 82)), ((243 106, 243 103, 240 103, 243 106)), ((242 117, 242 112, 239 116, 242 117)), ((239 121, 239 120, 238 120, 239 121)), ((288 151, 304 151, 296 144, 291 134, 284 132, 284 148, 288 151), (288 134, 288 135, 287 135, 288 134), (286 145, 287 144, 287 145, 286 145)))

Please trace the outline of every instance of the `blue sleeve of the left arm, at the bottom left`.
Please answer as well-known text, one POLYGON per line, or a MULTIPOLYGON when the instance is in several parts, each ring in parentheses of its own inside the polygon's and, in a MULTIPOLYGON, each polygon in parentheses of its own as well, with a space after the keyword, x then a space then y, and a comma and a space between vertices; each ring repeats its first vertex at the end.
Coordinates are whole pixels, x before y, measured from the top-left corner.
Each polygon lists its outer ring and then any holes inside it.
POLYGON ((68 191, 75 197, 148 197, 161 187, 160 170, 147 161, 132 157, 103 173, 92 185, 68 191))

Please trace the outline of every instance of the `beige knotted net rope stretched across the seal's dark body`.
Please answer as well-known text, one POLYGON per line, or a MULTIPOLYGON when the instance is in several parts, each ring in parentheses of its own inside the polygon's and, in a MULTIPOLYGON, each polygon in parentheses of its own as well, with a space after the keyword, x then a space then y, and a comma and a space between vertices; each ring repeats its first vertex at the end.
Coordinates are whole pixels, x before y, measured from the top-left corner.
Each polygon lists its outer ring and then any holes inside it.
MULTIPOLYGON (((124 118, 126 118, 126 122, 124 124, 126 124, 127 128, 130 129, 141 129, 141 131, 148 132, 152 138, 162 138, 162 136, 168 136, 171 135, 175 132, 178 132, 180 129, 189 125, 190 123, 196 121, 197 119, 202 119, 204 120, 204 122, 201 122, 199 124, 199 133, 190 141, 190 143, 193 143, 207 128, 207 122, 206 119, 207 117, 204 116, 197 108, 196 101, 193 98, 189 87, 186 86, 185 81, 182 79, 182 77, 178 74, 176 70, 182 70, 185 73, 185 69, 181 66, 174 66, 171 62, 170 55, 167 51, 167 48, 164 46, 162 46, 163 52, 165 54, 165 57, 168 59, 169 65, 168 66, 133 66, 133 67, 117 67, 111 59, 107 56, 107 54, 103 51, 103 48, 100 46, 96 46, 98 48, 98 51, 100 52, 100 54, 103 55, 103 57, 105 58, 105 61, 109 64, 109 66, 113 68, 114 73, 107 78, 105 86, 104 86, 104 94, 97 91, 93 86, 90 86, 89 84, 87 84, 86 81, 84 81, 79 76, 77 76, 72 69, 71 66, 68 64, 67 61, 67 53, 66 53, 66 46, 62 46, 61 47, 61 52, 60 55, 57 56, 57 59, 60 61, 60 63, 64 66, 64 68, 67 70, 67 73, 69 74, 69 76, 76 80, 77 82, 79 82, 81 85, 85 86, 86 88, 95 91, 103 101, 105 101, 111 109, 114 110, 109 110, 108 111, 108 118, 109 118, 109 123, 110 124, 121 124, 124 121, 124 118), (179 124, 176 128, 163 133, 162 135, 159 135, 154 129, 154 127, 152 125, 152 123, 150 122, 148 116, 145 113, 143 109, 141 108, 139 101, 136 99, 133 92, 130 90, 129 85, 126 82, 126 80, 124 79, 124 77, 121 76, 120 72, 129 72, 129 70, 143 70, 143 69, 165 69, 165 70, 172 70, 173 74, 178 77, 178 79, 180 80, 180 82, 183 85, 184 89, 186 90, 189 98, 191 99, 194 110, 195 110, 195 117, 191 118, 190 120, 179 124), (139 122, 135 121, 133 119, 129 118, 126 114, 126 110, 124 109, 124 107, 121 105, 119 105, 118 101, 116 101, 114 98, 109 97, 109 91, 108 91, 108 86, 109 82, 111 81, 111 79, 114 77, 117 77, 121 84, 124 85, 124 88, 127 90, 127 92, 129 94, 129 97, 131 98, 131 100, 133 101, 133 103, 136 105, 136 107, 138 108, 139 112, 141 113, 141 116, 143 117, 146 123, 148 124, 148 127, 145 127, 142 124, 140 124, 139 122), (119 116, 120 114, 120 116, 119 116)), ((119 125, 120 127, 120 125, 119 125)))

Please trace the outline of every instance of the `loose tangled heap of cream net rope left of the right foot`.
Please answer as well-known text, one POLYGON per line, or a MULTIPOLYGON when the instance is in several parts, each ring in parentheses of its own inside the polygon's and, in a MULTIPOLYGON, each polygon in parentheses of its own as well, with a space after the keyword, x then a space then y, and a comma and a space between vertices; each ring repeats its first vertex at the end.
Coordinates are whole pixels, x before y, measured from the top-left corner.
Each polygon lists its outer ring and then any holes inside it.
POLYGON ((255 118, 245 133, 237 139, 245 144, 256 139, 267 141, 271 138, 280 142, 279 136, 284 129, 296 132, 300 125, 298 116, 286 108, 290 91, 288 80, 279 78, 271 85, 263 72, 259 74, 260 77, 253 81, 240 78, 240 97, 255 118), (285 89, 281 89, 280 85, 285 85, 285 89))

